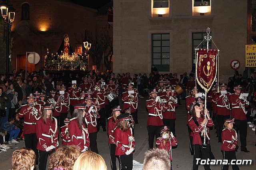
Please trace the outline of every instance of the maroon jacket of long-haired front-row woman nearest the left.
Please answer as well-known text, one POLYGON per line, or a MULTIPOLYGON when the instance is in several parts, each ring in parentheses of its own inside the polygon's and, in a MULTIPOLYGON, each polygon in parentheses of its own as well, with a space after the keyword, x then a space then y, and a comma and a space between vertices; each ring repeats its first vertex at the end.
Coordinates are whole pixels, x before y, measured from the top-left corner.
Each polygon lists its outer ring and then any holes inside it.
POLYGON ((52 117, 46 119, 46 123, 44 123, 43 117, 36 123, 36 137, 38 139, 36 149, 42 151, 48 151, 47 148, 51 148, 49 151, 55 148, 58 148, 58 123, 57 119, 52 117))

